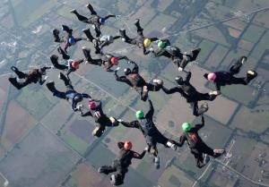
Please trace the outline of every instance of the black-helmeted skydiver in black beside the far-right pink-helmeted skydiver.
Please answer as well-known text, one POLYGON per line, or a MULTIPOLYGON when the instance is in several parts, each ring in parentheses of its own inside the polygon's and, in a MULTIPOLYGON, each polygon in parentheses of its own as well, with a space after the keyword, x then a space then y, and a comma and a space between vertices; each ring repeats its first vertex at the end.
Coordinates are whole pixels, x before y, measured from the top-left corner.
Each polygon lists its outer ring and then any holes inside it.
POLYGON ((195 87, 189 82, 191 79, 191 72, 187 72, 186 78, 183 78, 182 76, 177 76, 175 81, 178 83, 177 87, 174 87, 172 89, 166 89, 162 86, 162 90, 166 94, 173 94, 173 93, 180 93, 180 95, 187 99, 187 103, 190 104, 190 106, 193 109, 193 115, 203 115, 207 110, 208 106, 207 103, 204 103, 200 108, 198 107, 198 101, 201 100, 210 100, 213 101, 219 93, 218 91, 210 91, 209 93, 200 93, 198 92, 195 87))

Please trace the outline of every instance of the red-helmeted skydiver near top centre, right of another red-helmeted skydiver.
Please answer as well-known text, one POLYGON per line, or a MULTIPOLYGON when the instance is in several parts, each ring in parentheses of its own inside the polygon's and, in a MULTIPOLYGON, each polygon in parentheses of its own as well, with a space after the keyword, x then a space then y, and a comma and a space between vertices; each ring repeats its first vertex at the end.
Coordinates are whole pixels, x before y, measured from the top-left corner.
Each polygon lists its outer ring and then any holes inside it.
POLYGON ((100 54, 100 58, 91 58, 91 50, 86 47, 82 47, 82 52, 85 56, 86 64, 103 66, 107 72, 114 72, 111 68, 117 65, 120 60, 128 60, 126 56, 115 56, 111 54, 100 54))

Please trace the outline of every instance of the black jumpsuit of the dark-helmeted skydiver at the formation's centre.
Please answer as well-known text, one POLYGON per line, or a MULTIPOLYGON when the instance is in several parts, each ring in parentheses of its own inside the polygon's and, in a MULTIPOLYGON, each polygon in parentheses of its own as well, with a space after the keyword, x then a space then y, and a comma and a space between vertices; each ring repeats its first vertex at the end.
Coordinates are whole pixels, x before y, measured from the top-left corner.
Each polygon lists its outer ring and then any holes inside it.
POLYGON ((148 91, 159 91, 161 89, 161 85, 154 85, 152 83, 148 83, 144 81, 143 77, 139 74, 139 67, 137 64, 134 64, 134 68, 130 74, 127 76, 119 77, 117 72, 115 72, 116 81, 126 82, 130 87, 134 88, 141 95, 141 99, 145 101, 148 98, 148 91), (146 86, 148 91, 144 92, 143 87, 146 86))

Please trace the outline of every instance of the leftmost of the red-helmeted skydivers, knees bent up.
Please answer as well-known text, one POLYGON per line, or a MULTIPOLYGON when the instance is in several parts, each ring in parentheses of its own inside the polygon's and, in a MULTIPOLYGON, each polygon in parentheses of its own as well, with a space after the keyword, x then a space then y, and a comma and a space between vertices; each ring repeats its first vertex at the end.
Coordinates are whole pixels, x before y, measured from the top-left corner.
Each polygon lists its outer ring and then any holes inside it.
POLYGON ((84 62, 84 59, 80 59, 78 61, 68 59, 68 60, 66 60, 66 62, 64 64, 59 64, 58 63, 58 56, 51 55, 50 61, 56 69, 67 71, 66 76, 69 77, 69 74, 71 72, 75 72, 77 69, 79 69, 79 65, 84 62))

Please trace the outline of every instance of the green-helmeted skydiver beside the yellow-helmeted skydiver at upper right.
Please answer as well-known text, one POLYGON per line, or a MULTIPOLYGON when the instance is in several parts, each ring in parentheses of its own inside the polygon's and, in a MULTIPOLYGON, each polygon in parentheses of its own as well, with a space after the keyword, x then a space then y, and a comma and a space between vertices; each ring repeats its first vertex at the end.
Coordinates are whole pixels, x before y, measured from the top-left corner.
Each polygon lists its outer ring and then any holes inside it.
POLYGON ((196 60, 201 48, 196 48, 190 54, 182 54, 178 47, 170 45, 169 39, 162 39, 158 42, 158 49, 150 49, 150 51, 157 57, 166 56, 178 66, 178 71, 183 71, 188 63, 196 60))

